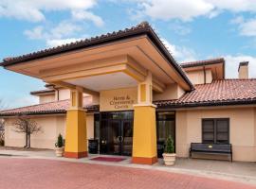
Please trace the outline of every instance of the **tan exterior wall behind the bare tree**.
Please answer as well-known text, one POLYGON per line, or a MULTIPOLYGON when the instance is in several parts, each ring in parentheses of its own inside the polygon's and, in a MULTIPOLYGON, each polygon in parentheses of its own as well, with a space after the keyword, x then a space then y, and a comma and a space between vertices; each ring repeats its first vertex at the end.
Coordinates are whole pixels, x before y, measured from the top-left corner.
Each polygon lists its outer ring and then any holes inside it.
MULTIPOLYGON (((31 135, 31 147, 53 149, 59 133, 65 133, 65 116, 51 115, 33 117, 42 132, 31 135)), ((13 122, 15 118, 6 119, 5 125, 5 145, 25 146, 25 134, 15 132, 13 122)))

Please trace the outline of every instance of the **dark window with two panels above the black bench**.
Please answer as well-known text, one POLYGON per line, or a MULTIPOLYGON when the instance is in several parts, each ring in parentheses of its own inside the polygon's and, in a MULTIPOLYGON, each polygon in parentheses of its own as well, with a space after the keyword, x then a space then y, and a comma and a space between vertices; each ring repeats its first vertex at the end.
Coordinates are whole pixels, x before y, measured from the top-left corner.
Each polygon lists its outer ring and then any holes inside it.
POLYGON ((203 119, 203 143, 229 144, 229 118, 203 119))

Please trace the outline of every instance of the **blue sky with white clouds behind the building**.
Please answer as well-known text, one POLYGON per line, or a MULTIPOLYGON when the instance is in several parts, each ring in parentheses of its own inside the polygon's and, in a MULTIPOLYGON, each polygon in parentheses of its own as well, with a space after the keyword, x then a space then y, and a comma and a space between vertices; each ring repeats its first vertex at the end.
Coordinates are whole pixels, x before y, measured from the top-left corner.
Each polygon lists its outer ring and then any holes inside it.
MULTIPOLYGON (((148 21, 177 62, 222 57, 256 77, 255 0, 0 0, 0 61, 148 21)), ((7 107, 36 104, 41 80, 0 68, 7 107)))

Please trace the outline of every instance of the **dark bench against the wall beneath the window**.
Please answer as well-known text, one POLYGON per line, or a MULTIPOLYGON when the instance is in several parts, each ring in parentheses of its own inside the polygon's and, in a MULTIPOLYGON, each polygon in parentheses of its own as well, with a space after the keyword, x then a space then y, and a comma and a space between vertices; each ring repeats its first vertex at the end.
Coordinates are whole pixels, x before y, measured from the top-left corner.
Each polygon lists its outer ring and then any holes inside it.
POLYGON ((232 162, 232 146, 231 144, 204 144, 192 143, 190 148, 190 157, 192 153, 212 154, 212 155, 229 155, 232 162))

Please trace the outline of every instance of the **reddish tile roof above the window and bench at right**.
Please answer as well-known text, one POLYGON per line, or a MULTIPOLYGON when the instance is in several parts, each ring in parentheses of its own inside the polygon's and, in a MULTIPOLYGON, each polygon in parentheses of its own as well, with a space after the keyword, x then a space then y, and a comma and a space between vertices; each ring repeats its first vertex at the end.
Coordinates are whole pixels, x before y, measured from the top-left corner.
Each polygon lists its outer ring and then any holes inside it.
POLYGON ((256 78, 222 79, 194 86, 177 100, 162 100, 158 108, 256 104, 256 78))

